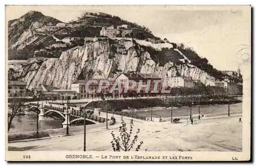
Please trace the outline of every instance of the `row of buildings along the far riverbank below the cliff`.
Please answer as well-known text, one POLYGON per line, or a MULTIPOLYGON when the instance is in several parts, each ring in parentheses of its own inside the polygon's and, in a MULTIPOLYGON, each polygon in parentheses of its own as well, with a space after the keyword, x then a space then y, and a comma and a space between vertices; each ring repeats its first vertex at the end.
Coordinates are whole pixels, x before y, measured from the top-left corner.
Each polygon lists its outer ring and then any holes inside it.
MULTIPOLYGON (((132 89, 129 89, 128 93, 136 92, 139 87, 139 81, 142 80, 142 85, 146 85, 148 80, 151 80, 151 84, 148 88, 148 92, 146 92, 146 88, 142 87, 140 90, 140 95, 156 95, 157 92, 161 92, 162 90, 162 79, 154 74, 141 74, 141 73, 122 73, 120 74, 116 80, 110 81, 110 86, 107 89, 102 89, 101 94, 97 93, 99 88, 99 80, 96 84, 90 84, 89 89, 95 90, 94 93, 87 92, 86 85, 88 80, 76 80, 71 85, 71 90, 61 90, 59 88, 49 86, 49 85, 41 85, 40 88, 33 88, 31 90, 26 89, 26 83, 22 81, 8 81, 8 96, 9 97, 25 97, 25 96, 34 96, 36 98, 42 100, 73 100, 73 99, 83 99, 83 98, 93 98, 99 97, 99 95, 106 95, 110 93, 110 90, 115 85, 115 82, 119 82, 121 85, 121 93, 118 90, 114 90, 111 93, 112 97, 124 97, 123 94, 126 82, 129 80, 133 80, 136 82, 136 86, 132 89), (156 87, 156 91, 154 91, 155 82, 158 81, 158 86, 156 87), (154 93, 151 93, 154 91, 154 93)), ((221 90, 224 90, 225 93, 229 95, 239 94, 242 92, 242 85, 239 85, 235 82, 228 81, 209 81, 206 86, 208 87, 218 87, 221 90), (210 82, 210 83, 209 83, 210 82)), ((166 88, 193 88, 195 85, 199 84, 200 80, 192 79, 187 77, 171 77, 166 79, 166 88)), ((217 89, 218 89, 217 88, 217 89)), ((218 92, 220 93, 220 92, 218 92)))

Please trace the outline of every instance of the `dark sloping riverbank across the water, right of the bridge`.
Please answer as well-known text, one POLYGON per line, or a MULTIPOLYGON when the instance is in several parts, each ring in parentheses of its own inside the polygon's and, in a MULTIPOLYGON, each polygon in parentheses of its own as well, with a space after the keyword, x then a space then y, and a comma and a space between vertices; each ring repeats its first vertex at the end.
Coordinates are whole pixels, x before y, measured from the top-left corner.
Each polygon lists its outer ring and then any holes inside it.
POLYGON ((183 107, 191 105, 214 105, 214 104, 234 104, 240 103, 242 100, 236 98, 219 98, 217 97, 167 97, 167 98, 150 98, 150 99, 124 99, 124 100, 108 100, 108 101, 93 101, 87 105, 88 108, 101 108, 109 109, 114 111, 121 111, 123 109, 141 109, 141 108, 151 108, 151 107, 183 107))

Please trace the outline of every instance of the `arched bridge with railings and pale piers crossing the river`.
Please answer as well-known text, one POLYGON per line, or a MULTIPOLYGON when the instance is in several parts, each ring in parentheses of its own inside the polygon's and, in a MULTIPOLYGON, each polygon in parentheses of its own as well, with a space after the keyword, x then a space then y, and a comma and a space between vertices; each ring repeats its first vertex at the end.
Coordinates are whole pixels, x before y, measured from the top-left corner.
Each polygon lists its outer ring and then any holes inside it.
MULTIPOLYGON (((65 107, 67 108, 67 103, 65 107)), ((57 113, 59 114, 65 121, 62 123, 62 127, 66 128, 67 125, 71 125, 73 122, 78 120, 84 120, 84 112, 76 109, 69 109, 69 113, 67 113, 67 109, 64 110, 62 107, 51 106, 48 104, 42 105, 38 103, 29 103, 26 111, 30 111, 32 108, 39 110, 38 121, 45 120, 45 116, 48 113, 57 113)), ((87 112, 87 110, 85 111, 87 112)), ((95 115, 86 114, 86 120, 91 121, 93 123, 104 123, 106 122, 105 118, 98 117, 95 115)))

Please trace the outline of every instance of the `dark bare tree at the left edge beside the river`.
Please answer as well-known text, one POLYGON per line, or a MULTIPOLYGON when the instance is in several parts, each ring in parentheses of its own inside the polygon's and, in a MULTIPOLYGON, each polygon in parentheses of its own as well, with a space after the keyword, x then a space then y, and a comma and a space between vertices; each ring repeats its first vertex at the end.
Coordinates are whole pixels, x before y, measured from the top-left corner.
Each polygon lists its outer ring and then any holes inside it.
POLYGON ((15 116, 22 113, 22 108, 24 107, 23 102, 11 102, 8 103, 8 132, 12 126, 12 120, 15 116))

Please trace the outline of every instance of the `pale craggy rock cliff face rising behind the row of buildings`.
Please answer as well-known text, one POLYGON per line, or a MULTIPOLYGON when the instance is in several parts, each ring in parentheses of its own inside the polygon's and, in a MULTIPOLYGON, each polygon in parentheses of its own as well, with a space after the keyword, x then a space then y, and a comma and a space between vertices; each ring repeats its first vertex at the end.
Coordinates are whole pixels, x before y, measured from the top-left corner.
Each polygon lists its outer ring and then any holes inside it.
POLYGON ((130 40, 102 40, 89 42, 63 51, 59 58, 32 58, 23 62, 9 62, 9 77, 27 82, 27 88, 40 84, 70 89, 77 79, 115 79, 120 73, 154 73, 161 78, 182 75, 206 82, 214 77, 201 69, 159 63, 150 53, 130 40))

